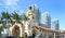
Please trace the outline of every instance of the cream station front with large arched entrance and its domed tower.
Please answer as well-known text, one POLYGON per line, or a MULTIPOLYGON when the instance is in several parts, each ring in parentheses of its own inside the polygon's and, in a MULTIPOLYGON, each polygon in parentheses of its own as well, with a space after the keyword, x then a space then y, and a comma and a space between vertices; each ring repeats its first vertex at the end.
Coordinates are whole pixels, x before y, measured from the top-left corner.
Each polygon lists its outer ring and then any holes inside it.
POLYGON ((9 29, 9 36, 32 36, 32 27, 37 26, 37 20, 36 14, 34 14, 31 7, 29 7, 29 10, 26 13, 26 17, 28 17, 28 21, 22 21, 22 24, 15 23, 12 27, 9 29))

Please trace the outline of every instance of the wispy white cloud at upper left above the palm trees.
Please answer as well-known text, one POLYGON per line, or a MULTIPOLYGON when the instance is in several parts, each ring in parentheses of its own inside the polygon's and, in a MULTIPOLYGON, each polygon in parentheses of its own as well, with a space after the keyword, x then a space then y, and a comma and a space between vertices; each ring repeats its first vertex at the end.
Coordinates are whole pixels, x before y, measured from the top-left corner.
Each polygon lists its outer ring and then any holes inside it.
POLYGON ((24 10, 18 5, 20 0, 4 0, 4 8, 9 11, 17 11, 18 14, 22 14, 24 10))

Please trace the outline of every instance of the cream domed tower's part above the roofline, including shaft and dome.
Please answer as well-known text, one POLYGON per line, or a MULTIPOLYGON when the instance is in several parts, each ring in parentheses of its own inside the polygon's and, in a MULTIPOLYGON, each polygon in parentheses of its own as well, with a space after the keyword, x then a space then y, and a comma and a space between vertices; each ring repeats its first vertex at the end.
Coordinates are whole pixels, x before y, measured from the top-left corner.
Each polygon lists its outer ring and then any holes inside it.
POLYGON ((37 22, 37 15, 34 13, 31 7, 29 7, 26 16, 29 18, 29 22, 31 24, 31 26, 37 26, 38 22, 37 22))

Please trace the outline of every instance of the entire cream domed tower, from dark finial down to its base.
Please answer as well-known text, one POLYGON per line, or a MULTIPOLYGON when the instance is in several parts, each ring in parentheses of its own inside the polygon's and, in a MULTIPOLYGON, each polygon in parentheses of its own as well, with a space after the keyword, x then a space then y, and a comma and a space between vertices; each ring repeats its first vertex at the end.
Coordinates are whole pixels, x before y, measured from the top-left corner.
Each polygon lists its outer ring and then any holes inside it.
POLYGON ((29 7, 27 13, 26 13, 26 17, 28 18, 28 33, 29 35, 32 35, 32 27, 34 26, 38 26, 38 22, 37 22, 37 16, 36 14, 32 12, 31 7, 29 7))

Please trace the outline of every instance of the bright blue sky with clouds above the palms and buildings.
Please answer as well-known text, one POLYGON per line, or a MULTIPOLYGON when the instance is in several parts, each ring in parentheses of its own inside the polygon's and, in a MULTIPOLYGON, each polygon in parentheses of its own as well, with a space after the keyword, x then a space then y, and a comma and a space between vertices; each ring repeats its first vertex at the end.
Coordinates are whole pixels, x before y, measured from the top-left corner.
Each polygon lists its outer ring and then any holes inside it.
POLYGON ((0 0, 0 15, 2 11, 23 14, 30 4, 37 4, 41 13, 49 11, 52 20, 60 20, 60 29, 65 29, 65 0, 0 0))

